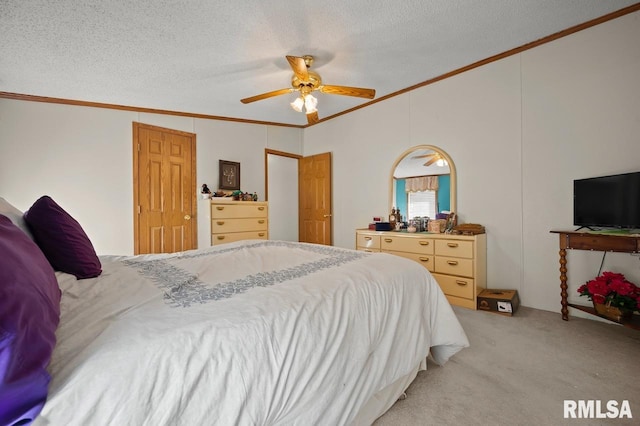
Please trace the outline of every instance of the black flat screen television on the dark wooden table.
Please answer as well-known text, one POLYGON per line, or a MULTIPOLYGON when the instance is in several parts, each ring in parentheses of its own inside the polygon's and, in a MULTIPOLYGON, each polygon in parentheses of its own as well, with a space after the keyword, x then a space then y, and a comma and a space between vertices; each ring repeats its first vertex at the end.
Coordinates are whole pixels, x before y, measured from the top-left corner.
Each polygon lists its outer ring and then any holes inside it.
POLYGON ((586 228, 640 228, 640 172, 574 180, 573 223, 586 228))

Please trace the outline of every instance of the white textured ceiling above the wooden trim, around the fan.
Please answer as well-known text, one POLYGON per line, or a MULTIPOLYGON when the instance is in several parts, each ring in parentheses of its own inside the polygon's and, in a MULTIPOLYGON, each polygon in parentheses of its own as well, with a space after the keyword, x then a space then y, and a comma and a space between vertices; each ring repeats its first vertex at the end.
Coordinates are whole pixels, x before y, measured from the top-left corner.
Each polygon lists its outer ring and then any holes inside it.
MULTIPOLYGON (((637 0, 1 0, 0 91, 306 125, 285 55, 325 84, 420 84, 637 0)), ((316 92, 317 93, 317 92, 316 92)), ((320 118, 370 102, 318 94, 320 118)))

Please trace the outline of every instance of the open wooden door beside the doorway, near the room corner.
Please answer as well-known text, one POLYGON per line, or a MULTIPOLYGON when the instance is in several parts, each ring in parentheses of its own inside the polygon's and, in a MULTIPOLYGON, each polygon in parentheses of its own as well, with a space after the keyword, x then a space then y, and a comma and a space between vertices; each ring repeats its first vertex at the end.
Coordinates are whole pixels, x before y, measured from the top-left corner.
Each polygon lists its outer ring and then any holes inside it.
POLYGON ((331 153, 300 160, 300 241, 331 245, 331 153))

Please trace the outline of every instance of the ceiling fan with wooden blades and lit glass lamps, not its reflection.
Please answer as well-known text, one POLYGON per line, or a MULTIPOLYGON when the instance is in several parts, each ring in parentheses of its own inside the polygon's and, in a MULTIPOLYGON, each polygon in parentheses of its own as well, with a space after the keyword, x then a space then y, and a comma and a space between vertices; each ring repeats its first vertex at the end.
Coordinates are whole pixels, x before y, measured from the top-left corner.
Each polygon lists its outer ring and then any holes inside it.
POLYGON ((376 95, 376 91, 374 89, 322 84, 320 75, 309 70, 313 64, 313 56, 311 55, 287 56, 287 61, 293 70, 291 88, 274 90, 273 92, 240 99, 240 102, 248 104, 262 99, 271 98, 273 96, 285 95, 287 93, 297 91, 300 92, 300 96, 296 98, 295 101, 291 102, 291 107, 298 112, 302 112, 304 109, 307 114, 307 122, 309 124, 314 124, 318 122, 318 100, 311 94, 311 92, 318 90, 329 95, 356 96, 367 99, 373 99, 376 95))

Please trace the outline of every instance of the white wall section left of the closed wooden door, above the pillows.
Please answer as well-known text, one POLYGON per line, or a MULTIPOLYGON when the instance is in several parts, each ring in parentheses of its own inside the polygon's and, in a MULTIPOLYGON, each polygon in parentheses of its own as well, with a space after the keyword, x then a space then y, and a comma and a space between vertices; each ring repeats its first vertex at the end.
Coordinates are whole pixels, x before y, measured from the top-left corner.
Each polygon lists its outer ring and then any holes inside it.
POLYGON ((133 121, 127 111, 0 99, 0 194, 22 211, 49 195, 100 254, 133 253, 133 121))

